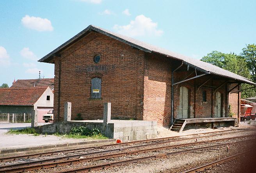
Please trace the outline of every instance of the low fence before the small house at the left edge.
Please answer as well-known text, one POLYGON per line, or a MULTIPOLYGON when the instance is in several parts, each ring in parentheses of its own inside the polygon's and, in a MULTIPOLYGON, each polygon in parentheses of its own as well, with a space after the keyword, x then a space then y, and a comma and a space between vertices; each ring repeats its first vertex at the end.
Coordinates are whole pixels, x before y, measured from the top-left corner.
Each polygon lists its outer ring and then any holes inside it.
POLYGON ((21 114, 0 113, 0 122, 11 122, 11 123, 31 122, 31 114, 30 113, 21 113, 21 114))

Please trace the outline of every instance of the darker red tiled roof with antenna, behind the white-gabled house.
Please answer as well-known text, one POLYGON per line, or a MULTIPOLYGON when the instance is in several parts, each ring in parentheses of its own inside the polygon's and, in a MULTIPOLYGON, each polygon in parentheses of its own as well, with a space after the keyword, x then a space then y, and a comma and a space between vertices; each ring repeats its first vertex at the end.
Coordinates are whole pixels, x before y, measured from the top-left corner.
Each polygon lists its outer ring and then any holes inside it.
POLYGON ((12 84, 12 88, 23 88, 23 87, 41 87, 48 86, 50 89, 54 87, 54 78, 49 79, 22 79, 17 80, 12 84))

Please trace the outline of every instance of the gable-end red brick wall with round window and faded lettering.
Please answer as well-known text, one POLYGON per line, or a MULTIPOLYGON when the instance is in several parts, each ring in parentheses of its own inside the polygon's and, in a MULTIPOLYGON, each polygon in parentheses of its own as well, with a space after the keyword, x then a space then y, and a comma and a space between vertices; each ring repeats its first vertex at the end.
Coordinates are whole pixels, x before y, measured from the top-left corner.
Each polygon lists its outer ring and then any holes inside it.
MULTIPOLYGON (((61 54, 60 120, 64 102, 72 103, 71 119, 81 113, 84 119, 103 119, 103 103, 111 102, 112 118, 142 119, 144 52, 100 33, 90 33, 61 54), (96 54, 101 55, 94 63, 96 54), (92 72, 88 66, 106 65, 92 72), (91 78, 101 77, 101 100, 91 99, 91 78)), ((59 64, 55 61, 55 117, 58 112, 59 64)), ((56 119, 57 120, 57 119, 56 119)))

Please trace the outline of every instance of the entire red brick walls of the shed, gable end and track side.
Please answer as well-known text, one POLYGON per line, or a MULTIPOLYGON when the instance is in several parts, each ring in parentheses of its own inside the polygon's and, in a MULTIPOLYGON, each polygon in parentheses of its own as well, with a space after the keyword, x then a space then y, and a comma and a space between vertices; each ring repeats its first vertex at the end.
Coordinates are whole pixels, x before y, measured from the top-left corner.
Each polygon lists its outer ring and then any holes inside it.
MULTIPOLYGON (((81 113, 84 119, 103 119, 103 103, 111 102, 112 119, 154 120, 158 125, 169 126, 171 119, 171 71, 180 61, 138 49, 100 33, 90 33, 75 44, 60 52, 55 58, 54 115, 63 120, 64 102, 72 103, 71 119, 81 113), (93 62, 96 54, 99 63, 93 62), (60 62, 60 66, 59 66, 60 62), (92 71, 89 66, 104 65, 103 70, 92 71), (60 70, 59 70, 60 68, 60 70), (59 103, 60 76, 60 103, 59 103), (101 100, 91 99, 91 79, 101 77, 101 100), (60 105, 60 107, 59 107, 60 105)), ((185 79, 194 72, 183 65, 174 73, 174 82, 185 79)), ((197 72, 197 75, 202 74, 197 72)), ((195 74, 187 78, 193 77, 195 74)), ((209 75, 189 80, 174 86, 174 118, 180 104, 180 87, 188 88, 188 118, 214 117, 216 92, 211 89, 195 88, 209 75), (203 89, 207 101, 203 103, 203 89), (196 93, 196 96, 194 96, 196 93)), ((205 85, 219 86, 224 80, 209 80, 205 85)), ((223 117, 226 112, 226 86, 217 91, 222 94, 223 117)))

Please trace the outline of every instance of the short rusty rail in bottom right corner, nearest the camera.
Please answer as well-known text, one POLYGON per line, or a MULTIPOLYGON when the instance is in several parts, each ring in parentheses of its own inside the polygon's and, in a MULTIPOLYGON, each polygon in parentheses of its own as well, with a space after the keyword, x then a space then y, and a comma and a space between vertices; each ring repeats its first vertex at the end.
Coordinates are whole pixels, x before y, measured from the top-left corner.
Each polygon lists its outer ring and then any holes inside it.
POLYGON ((230 159, 234 159, 234 158, 236 158, 236 157, 238 157, 238 156, 240 156, 242 154, 246 154, 248 152, 251 152, 251 151, 245 151, 245 152, 241 152, 239 154, 236 154, 236 155, 233 155, 233 156, 230 156, 230 157, 225 157, 224 159, 220 159, 220 160, 208 163, 208 164, 204 164, 202 166, 198 166, 196 168, 193 168, 193 169, 181 172, 181 173, 195 173, 196 171, 203 171, 205 168, 209 168, 211 166, 215 166, 216 164, 219 164, 219 163, 224 163, 226 161, 229 161, 230 159))

